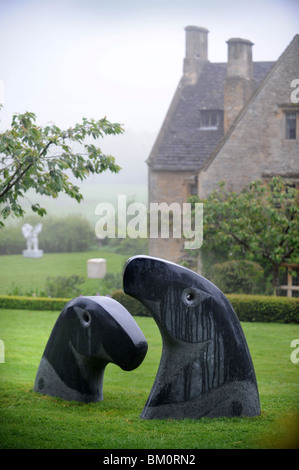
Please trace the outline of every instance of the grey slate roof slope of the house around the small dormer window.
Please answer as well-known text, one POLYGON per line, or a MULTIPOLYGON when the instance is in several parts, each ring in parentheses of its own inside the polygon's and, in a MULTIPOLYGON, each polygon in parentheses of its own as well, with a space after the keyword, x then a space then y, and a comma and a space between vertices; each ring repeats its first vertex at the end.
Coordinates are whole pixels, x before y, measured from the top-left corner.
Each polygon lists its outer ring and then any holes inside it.
MULTIPOLYGON (((258 86, 275 62, 254 62, 258 86)), ((226 63, 206 62, 195 85, 182 78, 147 160, 153 170, 199 171, 223 138, 218 130, 199 130, 200 110, 224 108, 226 63)))

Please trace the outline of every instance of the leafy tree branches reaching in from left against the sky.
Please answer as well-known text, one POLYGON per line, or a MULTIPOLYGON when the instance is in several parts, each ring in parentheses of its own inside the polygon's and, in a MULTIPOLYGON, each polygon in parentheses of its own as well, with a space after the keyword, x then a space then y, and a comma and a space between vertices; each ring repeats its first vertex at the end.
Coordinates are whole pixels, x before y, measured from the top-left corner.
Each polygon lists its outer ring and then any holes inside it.
MULTIPOLYGON (((11 129, 0 134, 0 216, 22 217, 21 199, 34 188, 36 193, 56 198, 64 192, 80 202, 80 188, 71 182, 71 173, 84 180, 90 174, 106 170, 117 173, 115 158, 105 155, 92 143, 104 135, 122 134, 120 124, 83 118, 67 130, 54 124, 36 125, 34 113, 14 114, 11 129), (90 143, 91 142, 91 143, 90 143), (73 147, 79 147, 75 150, 73 147)), ((46 210, 38 203, 31 209, 43 216, 46 210)), ((0 220, 0 227, 4 222, 0 220)))

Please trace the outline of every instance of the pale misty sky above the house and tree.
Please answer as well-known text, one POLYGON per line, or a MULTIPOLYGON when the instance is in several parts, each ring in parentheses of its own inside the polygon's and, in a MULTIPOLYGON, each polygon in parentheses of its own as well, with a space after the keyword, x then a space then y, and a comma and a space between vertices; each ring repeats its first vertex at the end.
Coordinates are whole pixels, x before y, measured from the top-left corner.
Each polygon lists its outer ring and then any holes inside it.
POLYGON ((190 24, 210 31, 213 62, 226 62, 231 37, 272 61, 299 33, 299 0, 0 0, 1 129, 26 110, 63 127, 107 116, 126 134, 102 148, 124 170, 102 181, 146 182, 190 24))

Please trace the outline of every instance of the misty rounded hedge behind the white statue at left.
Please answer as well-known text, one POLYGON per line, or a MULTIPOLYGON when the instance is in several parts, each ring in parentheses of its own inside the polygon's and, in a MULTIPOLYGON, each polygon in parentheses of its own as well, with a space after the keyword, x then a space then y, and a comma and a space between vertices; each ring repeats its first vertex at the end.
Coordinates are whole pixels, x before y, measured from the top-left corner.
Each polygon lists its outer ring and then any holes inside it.
MULTIPOLYGON (((40 222, 40 218, 29 217, 25 221, 34 225, 40 222)), ((1 255, 19 254, 26 248, 21 231, 25 221, 16 226, 4 227, 0 231, 1 255)), ((38 239, 39 247, 45 253, 74 253, 90 249, 94 232, 90 223, 80 216, 46 217, 38 239)))

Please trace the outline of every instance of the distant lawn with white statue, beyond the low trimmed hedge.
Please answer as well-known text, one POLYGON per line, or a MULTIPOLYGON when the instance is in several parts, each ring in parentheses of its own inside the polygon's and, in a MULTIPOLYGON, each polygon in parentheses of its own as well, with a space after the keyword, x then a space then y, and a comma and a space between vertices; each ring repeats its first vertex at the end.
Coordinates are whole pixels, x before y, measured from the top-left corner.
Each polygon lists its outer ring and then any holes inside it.
POLYGON ((87 278, 87 260, 90 258, 105 258, 107 273, 121 273, 128 257, 101 251, 45 253, 42 258, 0 256, 0 295, 6 295, 13 285, 24 290, 39 291, 44 288, 47 277, 68 277, 73 274, 85 279, 82 284, 83 295, 95 295, 99 291, 103 294, 102 281, 87 278))

